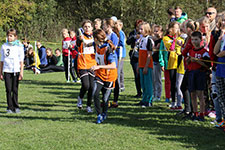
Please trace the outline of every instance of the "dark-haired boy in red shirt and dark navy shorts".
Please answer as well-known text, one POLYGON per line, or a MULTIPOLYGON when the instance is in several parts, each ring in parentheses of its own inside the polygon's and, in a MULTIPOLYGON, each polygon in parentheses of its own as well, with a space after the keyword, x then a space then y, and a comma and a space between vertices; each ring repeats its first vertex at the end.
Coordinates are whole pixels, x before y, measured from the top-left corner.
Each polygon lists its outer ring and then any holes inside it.
POLYGON ((191 92, 191 100, 193 107, 193 120, 204 121, 205 113, 205 100, 204 89, 206 86, 206 73, 205 71, 210 66, 210 63, 205 63, 199 59, 209 60, 209 54, 207 50, 201 45, 202 34, 195 31, 191 34, 191 43, 193 49, 189 50, 189 57, 187 59, 188 68, 190 70, 188 76, 188 86, 191 92), (200 116, 198 115, 198 103, 197 97, 200 101, 200 116))

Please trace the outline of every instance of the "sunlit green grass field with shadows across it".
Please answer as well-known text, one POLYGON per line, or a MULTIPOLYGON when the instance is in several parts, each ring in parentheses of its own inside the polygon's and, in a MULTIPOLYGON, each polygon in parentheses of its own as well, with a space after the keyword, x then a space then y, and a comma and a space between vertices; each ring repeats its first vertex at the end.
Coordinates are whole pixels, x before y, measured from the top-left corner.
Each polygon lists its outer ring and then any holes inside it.
POLYGON ((152 108, 133 106, 140 99, 132 97, 136 91, 129 61, 124 68, 126 89, 119 107, 110 109, 102 124, 95 123, 95 113, 76 108, 80 84, 66 83, 62 72, 25 71, 19 88, 20 114, 6 114, 1 81, 0 150, 225 149, 225 134, 210 124, 212 119, 183 121, 168 110, 164 98, 152 108))

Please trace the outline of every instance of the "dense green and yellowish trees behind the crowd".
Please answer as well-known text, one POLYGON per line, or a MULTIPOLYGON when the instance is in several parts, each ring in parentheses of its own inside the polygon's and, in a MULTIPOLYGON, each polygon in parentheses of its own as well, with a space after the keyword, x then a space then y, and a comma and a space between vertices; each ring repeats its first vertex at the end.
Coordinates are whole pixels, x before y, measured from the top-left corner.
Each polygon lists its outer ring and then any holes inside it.
POLYGON ((2 0, 0 2, 0 37, 9 28, 19 31, 20 38, 41 41, 61 40, 62 28, 76 30, 82 20, 116 16, 124 22, 128 34, 136 19, 165 27, 167 9, 180 6, 191 19, 204 15, 207 7, 218 12, 225 0, 2 0))

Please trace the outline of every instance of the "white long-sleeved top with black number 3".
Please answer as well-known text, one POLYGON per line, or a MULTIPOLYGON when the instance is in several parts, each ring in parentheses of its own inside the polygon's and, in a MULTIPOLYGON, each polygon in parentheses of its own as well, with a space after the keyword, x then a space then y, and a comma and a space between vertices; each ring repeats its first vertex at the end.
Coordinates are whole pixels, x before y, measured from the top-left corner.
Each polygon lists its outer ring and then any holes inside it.
POLYGON ((1 47, 1 62, 3 62, 3 72, 20 72, 20 62, 24 60, 23 46, 10 45, 4 43, 1 47))

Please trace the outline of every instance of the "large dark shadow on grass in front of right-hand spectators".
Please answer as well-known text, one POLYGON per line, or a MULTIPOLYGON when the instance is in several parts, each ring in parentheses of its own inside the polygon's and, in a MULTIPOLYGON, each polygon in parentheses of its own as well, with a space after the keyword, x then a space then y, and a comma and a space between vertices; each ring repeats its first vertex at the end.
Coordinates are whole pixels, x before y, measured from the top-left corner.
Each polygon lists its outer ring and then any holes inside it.
MULTIPOLYGON (((178 119, 175 112, 169 111, 162 105, 165 104, 157 103, 156 106, 145 109, 137 106, 124 108, 123 105, 121 108, 111 108, 108 111, 107 120, 100 125, 115 124, 147 130, 149 134, 156 135, 159 140, 183 143, 184 148, 192 147, 197 150, 225 148, 225 134, 218 129, 206 126, 205 124, 209 124, 208 121, 193 122, 178 119)), ((93 122, 91 118, 93 116, 83 117, 82 115, 85 114, 81 113, 78 119, 93 122)), ((95 116, 95 121, 96 118, 95 116)))

